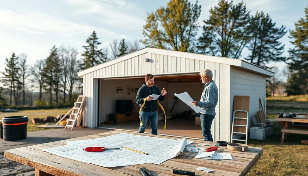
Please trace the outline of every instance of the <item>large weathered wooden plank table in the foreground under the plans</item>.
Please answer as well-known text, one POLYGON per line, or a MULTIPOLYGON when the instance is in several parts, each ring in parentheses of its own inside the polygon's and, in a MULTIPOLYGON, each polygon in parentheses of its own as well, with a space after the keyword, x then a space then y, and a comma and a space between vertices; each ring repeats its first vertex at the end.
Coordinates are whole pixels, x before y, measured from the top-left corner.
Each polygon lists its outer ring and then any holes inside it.
MULTIPOLYGON (((235 160, 208 160, 194 158, 197 153, 183 152, 175 158, 169 159, 160 165, 148 163, 132 166, 122 167, 101 167, 90 163, 84 163, 75 161, 68 158, 63 158, 51 153, 41 151, 41 149, 47 149, 56 146, 66 145, 66 141, 76 141, 84 139, 92 139, 110 136, 118 133, 130 133, 136 135, 154 136, 161 138, 177 139, 176 137, 157 136, 151 134, 142 134, 138 132, 127 131, 110 131, 105 133, 99 133, 95 135, 89 135, 84 137, 76 137, 72 139, 50 142, 39 145, 32 145, 28 147, 21 147, 17 149, 10 149, 4 151, 4 156, 13 161, 25 164, 27 166, 35 168, 35 175, 141 175, 139 167, 146 167, 152 172, 153 175, 177 175, 172 174, 171 169, 180 169, 193 171, 196 175, 246 175, 249 170, 256 164, 258 159, 263 154, 263 148, 249 147, 247 152, 237 152, 228 150, 226 147, 219 147, 217 152, 231 153, 235 160), (205 171, 195 170, 198 167, 207 167, 214 170, 212 173, 206 173, 205 171)), ((195 145, 199 143, 215 145, 214 142, 196 141, 195 145)), ((178 175, 177 175, 178 176, 178 175)))

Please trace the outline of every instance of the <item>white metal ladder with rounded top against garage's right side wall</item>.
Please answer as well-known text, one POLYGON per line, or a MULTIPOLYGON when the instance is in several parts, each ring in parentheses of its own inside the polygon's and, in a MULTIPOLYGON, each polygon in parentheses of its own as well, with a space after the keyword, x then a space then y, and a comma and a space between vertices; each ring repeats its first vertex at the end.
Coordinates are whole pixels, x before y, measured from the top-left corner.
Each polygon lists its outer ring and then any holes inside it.
POLYGON ((247 130, 248 130, 248 112, 243 111, 243 110, 234 111, 233 112, 233 122, 232 122, 231 142, 233 143, 233 141, 244 141, 245 144, 247 145, 247 137, 248 137, 247 130), (244 112, 244 113, 246 113, 246 117, 235 117, 236 112, 244 112), (235 119, 238 119, 238 120, 236 120, 237 122, 242 122, 242 123, 241 124, 237 124, 237 123, 234 124, 235 119), (246 120, 246 125, 243 125, 244 120, 246 120), (237 130, 235 130, 235 132, 233 131, 234 127, 235 127, 235 129, 237 129, 237 130), (243 130, 244 127, 245 127, 245 130, 243 130), (233 134, 245 134, 246 140, 244 140, 244 139, 233 139, 233 134))

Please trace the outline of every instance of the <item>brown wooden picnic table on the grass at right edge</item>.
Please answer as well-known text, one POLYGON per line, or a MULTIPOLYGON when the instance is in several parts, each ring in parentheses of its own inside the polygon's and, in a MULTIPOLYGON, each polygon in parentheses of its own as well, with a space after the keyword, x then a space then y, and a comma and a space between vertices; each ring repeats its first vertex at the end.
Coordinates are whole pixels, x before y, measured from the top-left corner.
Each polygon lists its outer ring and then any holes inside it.
POLYGON ((285 140, 286 133, 308 134, 307 127, 301 129, 301 127, 292 125, 292 122, 308 123, 308 119, 277 118, 274 120, 280 121, 282 124, 281 143, 285 140))

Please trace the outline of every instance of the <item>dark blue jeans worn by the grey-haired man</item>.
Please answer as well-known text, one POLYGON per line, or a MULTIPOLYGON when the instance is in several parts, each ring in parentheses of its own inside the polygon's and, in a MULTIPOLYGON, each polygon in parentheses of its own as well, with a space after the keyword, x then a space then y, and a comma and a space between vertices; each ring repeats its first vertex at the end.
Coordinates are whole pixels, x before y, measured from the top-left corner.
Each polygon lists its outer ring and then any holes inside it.
POLYGON ((212 125, 214 118, 215 118, 215 116, 200 113, 202 136, 203 136, 205 141, 212 141, 213 142, 213 137, 212 137, 212 134, 211 134, 211 125, 212 125))

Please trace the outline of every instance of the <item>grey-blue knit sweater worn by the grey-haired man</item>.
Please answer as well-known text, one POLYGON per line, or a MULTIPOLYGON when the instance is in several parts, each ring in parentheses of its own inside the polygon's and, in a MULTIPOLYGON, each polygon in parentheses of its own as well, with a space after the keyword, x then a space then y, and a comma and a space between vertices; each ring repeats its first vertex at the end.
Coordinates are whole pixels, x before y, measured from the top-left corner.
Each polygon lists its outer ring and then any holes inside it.
POLYGON ((201 111, 202 114, 208 114, 215 116, 215 108, 218 102, 218 89, 214 80, 209 81, 204 85, 202 96, 198 102, 198 106, 201 107, 204 111, 201 111))

